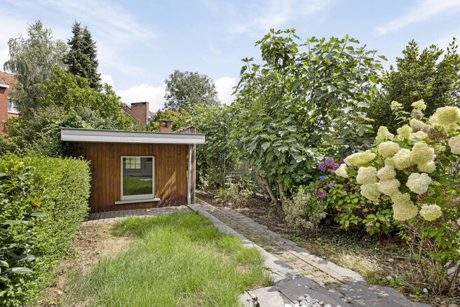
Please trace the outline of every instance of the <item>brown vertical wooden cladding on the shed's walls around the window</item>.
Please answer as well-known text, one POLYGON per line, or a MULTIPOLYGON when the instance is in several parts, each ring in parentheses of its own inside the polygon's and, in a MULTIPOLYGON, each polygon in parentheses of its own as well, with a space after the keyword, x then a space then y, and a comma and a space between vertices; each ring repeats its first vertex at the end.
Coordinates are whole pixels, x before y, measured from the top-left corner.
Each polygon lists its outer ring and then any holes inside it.
MULTIPOLYGON (((77 156, 90 161, 91 212, 187 204, 187 144, 75 142, 77 156), (155 197, 159 201, 115 205, 121 198, 121 156, 155 156, 155 197)), ((193 157, 192 157, 193 158, 193 157)), ((191 196, 194 202, 194 163, 191 196)))

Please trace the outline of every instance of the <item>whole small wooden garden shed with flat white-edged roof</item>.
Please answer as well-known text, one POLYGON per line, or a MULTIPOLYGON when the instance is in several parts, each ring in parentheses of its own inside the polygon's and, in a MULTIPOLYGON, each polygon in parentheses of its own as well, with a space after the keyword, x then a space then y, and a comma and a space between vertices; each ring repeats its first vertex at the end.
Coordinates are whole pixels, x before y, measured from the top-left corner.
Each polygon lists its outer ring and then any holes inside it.
POLYGON ((194 203, 195 146, 205 142, 195 131, 61 128, 61 139, 90 161, 90 210, 104 212, 194 203))

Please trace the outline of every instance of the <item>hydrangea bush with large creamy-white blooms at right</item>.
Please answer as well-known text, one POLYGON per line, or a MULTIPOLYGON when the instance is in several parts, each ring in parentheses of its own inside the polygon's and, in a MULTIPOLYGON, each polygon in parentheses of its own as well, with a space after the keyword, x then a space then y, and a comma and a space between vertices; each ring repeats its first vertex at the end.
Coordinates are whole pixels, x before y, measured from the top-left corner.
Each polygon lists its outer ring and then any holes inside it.
POLYGON ((426 119, 423 100, 412 107, 408 114, 392 102, 403 122, 397 135, 380 127, 374 148, 346 157, 334 174, 349 178, 358 169, 362 196, 391 200, 424 282, 452 292, 460 273, 460 110, 442 107, 426 119))

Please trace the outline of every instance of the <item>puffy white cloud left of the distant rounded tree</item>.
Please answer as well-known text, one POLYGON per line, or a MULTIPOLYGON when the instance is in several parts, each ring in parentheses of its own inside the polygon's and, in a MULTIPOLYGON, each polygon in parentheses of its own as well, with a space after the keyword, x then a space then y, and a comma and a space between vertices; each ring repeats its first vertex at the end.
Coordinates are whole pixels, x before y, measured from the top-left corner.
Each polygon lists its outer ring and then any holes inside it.
POLYGON ((149 102, 150 111, 158 111, 165 104, 165 88, 141 84, 132 86, 128 90, 117 90, 116 93, 121 97, 121 101, 130 104, 132 102, 149 102))

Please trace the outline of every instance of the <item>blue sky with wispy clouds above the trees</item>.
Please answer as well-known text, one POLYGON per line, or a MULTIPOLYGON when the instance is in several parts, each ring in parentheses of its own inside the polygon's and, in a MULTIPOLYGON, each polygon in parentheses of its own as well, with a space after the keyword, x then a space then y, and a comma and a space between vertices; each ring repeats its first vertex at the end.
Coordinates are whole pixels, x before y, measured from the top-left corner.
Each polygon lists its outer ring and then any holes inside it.
MULTIPOLYGON (((210 76, 231 101, 243 57, 259 57, 255 41, 270 28, 294 27, 301 38, 349 34, 388 57, 411 39, 445 47, 460 36, 460 0, 110 1, 0 0, 0 64, 10 37, 42 22, 69 39, 74 20, 97 41, 100 72, 123 102, 163 107, 164 80, 174 69, 210 76)), ((3 67, 0 67, 0 69, 3 67)))

